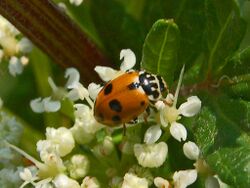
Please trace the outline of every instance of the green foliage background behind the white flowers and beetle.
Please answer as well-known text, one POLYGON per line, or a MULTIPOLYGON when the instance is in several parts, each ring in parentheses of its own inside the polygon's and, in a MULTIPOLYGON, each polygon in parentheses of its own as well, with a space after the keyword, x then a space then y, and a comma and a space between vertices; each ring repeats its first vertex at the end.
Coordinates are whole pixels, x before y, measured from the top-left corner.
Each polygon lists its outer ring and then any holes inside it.
MULTIPOLYGON (((185 64, 181 94, 197 95, 202 101, 200 114, 183 122, 189 139, 199 145, 203 158, 222 181, 232 187, 250 185, 249 1, 85 0, 79 7, 65 3, 69 16, 115 68, 120 64, 120 50, 130 48, 136 54, 137 68, 160 74, 171 90, 185 64)), ((26 122, 21 147, 33 153, 45 127, 72 125, 67 101, 53 114, 34 114, 29 107, 31 99, 51 94, 48 76, 58 85, 65 83, 63 69, 43 52, 35 48, 30 65, 17 78, 8 75, 4 63, 0 66, 0 96, 5 107, 26 122), (31 138, 30 134, 40 136, 31 138)), ((170 142, 170 147, 178 145, 170 142)), ((178 152, 171 153, 170 162, 157 173, 179 169, 175 163, 192 168, 178 152)), ((202 187, 203 181, 200 177, 192 187, 202 187)))

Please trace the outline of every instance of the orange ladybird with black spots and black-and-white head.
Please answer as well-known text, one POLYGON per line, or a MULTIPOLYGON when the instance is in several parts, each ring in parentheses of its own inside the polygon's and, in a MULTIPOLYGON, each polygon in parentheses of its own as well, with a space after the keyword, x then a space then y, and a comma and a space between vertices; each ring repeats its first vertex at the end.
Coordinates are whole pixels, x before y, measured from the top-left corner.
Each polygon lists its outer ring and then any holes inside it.
POLYGON ((95 119, 108 126, 129 123, 149 105, 159 100, 167 86, 161 76, 145 71, 130 71, 109 81, 98 93, 95 119))

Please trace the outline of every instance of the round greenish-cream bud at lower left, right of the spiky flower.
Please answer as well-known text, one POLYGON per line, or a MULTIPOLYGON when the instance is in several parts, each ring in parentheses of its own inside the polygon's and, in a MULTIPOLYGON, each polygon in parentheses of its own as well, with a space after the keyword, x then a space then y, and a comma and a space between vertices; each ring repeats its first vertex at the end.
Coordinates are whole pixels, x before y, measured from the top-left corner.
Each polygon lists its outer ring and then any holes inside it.
POLYGON ((68 165, 68 171, 71 178, 83 178, 89 169, 89 160, 86 156, 77 154, 73 155, 68 165))

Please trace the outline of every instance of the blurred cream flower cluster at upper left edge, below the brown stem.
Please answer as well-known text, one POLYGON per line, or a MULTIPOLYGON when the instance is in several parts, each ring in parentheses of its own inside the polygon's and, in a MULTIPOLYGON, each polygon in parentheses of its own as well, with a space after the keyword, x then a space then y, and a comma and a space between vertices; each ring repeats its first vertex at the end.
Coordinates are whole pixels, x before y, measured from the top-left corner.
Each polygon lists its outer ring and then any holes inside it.
POLYGON ((23 67, 28 64, 26 56, 32 48, 32 43, 4 17, 0 15, 0 63, 9 61, 9 72, 16 76, 23 72, 23 67))

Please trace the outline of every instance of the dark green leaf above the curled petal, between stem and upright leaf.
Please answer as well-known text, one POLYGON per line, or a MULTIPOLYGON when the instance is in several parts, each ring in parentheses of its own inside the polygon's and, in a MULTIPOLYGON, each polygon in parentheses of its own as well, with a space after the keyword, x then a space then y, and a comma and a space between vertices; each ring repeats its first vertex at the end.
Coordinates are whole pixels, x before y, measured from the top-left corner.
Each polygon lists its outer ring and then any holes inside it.
POLYGON ((141 57, 145 33, 140 23, 115 0, 90 2, 93 22, 109 57, 120 65, 119 54, 125 48, 130 48, 137 58, 141 57))

